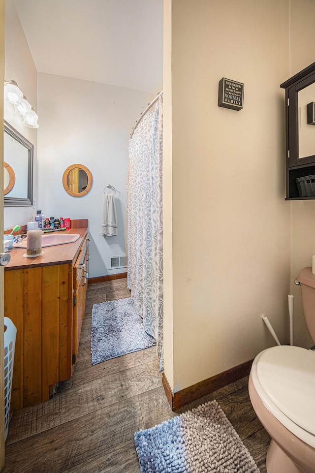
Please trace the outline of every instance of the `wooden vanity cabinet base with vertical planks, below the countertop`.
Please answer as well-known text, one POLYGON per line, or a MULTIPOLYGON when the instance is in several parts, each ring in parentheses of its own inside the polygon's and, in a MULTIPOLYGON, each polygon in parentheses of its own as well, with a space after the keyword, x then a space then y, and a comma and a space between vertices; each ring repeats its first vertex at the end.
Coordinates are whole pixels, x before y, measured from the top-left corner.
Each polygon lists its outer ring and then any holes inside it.
MULTIPOLYGON (((53 248, 58 247, 49 247, 53 248)), ((56 383, 72 376, 84 316, 87 263, 86 233, 71 262, 4 271, 4 314, 17 328, 11 410, 48 400, 56 383)))

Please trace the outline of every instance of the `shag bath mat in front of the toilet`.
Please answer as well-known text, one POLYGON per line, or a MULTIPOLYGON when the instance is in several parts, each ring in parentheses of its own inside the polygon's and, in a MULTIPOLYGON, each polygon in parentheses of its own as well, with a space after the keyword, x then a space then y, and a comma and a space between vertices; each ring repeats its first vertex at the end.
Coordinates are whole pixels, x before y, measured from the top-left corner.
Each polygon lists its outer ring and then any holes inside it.
POLYGON ((134 434, 141 473, 259 473, 217 401, 134 434))

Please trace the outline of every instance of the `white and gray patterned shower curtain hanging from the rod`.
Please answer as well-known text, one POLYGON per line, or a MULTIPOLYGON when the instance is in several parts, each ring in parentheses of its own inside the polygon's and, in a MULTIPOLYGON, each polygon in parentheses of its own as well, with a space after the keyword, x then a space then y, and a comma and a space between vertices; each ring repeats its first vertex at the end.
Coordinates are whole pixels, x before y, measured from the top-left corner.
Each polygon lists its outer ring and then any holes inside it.
POLYGON ((129 141, 127 173, 128 274, 134 308, 157 341, 163 371, 163 97, 147 112, 129 141))

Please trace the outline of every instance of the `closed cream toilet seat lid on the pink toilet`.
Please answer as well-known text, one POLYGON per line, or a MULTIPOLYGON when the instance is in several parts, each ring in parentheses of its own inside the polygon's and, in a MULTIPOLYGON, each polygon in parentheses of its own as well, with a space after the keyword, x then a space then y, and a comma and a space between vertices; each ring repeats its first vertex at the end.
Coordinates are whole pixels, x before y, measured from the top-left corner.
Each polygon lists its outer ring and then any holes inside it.
POLYGON ((253 361, 252 381, 267 409, 315 448, 315 354, 301 347, 267 348, 253 361))

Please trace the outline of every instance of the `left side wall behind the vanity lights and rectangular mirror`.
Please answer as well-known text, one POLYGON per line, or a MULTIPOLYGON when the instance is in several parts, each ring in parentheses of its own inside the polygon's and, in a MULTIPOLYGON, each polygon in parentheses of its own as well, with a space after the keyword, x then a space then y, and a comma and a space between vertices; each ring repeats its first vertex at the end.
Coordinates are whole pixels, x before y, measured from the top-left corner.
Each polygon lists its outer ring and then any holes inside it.
MULTIPOLYGON (((5 2, 5 51, 4 79, 15 80, 23 94, 37 112, 37 70, 32 59, 25 34, 12 0, 5 2)), ((20 115, 15 115, 14 106, 4 101, 4 119, 34 145, 33 196, 37 200, 37 128, 22 125, 20 115)), ((38 120, 40 125, 40 120, 38 120)), ((5 159, 4 159, 5 160, 5 159)), ((8 195, 9 196, 9 195, 8 195)), ((36 213, 32 207, 4 207, 4 229, 25 224, 36 213)))

